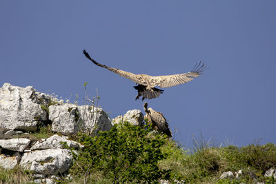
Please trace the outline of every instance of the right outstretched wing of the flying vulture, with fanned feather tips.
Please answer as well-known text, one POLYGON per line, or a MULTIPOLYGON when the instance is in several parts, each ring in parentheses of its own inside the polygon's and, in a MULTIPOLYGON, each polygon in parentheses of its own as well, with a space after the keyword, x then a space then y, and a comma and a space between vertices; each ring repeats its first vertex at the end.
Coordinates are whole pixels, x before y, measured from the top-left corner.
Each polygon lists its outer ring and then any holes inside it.
POLYGON ((201 64, 201 61, 198 64, 195 64, 195 67, 192 71, 184 74, 172 74, 172 75, 163 75, 163 76, 152 76, 156 81, 156 85, 161 88, 170 88, 181 83, 188 83, 192 81, 195 77, 199 76, 204 72, 206 67, 204 63, 201 64))

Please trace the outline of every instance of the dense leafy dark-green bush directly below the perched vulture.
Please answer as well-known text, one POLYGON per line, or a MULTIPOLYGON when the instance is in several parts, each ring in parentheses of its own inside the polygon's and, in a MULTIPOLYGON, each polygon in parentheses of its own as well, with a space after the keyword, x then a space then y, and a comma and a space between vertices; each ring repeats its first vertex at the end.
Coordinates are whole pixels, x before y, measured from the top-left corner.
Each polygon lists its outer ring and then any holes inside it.
POLYGON ((78 156, 75 155, 71 173, 86 178, 97 173, 110 178, 112 183, 152 183, 159 178, 168 178, 170 171, 160 170, 157 165, 167 157, 161 152, 166 136, 151 134, 150 130, 149 125, 141 128, 121 123, 95 137, 81 134, 79 142, 85 147, 78 156))

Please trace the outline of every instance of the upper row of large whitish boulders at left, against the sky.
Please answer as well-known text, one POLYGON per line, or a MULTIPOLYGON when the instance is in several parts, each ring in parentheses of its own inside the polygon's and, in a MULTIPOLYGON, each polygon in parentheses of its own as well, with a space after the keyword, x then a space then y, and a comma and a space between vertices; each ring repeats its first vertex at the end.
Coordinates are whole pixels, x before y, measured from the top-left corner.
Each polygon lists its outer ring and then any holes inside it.
MULTIPOLYGON (((111 129, 108 114, 101 108, 58 101, 50 94, 36 92, 32 86, 5 83, 0 88, 0 135, 37 130, 50 123, 61 134, 97 132, 111 129)), ((3 136, 0 136, 3 138, 3 136)))

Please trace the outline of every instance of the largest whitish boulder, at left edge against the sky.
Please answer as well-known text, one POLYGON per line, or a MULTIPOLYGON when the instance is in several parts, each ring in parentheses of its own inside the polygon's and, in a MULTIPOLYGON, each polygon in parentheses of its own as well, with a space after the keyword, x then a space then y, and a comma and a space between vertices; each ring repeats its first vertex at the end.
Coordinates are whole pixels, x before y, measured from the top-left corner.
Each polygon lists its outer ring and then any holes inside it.
POLYGON ((46 120, 47 114, 32 101, 32 86, 21 88, 4 83, 0 88, 0 133, 8 130, 37 129, 38 120, 46 120))

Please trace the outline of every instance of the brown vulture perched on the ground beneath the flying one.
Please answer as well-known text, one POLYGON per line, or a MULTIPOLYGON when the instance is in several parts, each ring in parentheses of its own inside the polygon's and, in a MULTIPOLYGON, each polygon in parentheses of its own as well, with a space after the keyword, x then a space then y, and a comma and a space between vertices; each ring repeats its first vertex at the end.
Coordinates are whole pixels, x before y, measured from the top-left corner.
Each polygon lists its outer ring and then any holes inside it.
POLYGON ((172 137, 172 132, 168 128, 168 123, 161 112, 148 108, 148 103, 144 103, 144 111, 146 112, 145 119, 148 119, 152 123, 153 128, 157 128, 159 132, 166 134, 168 137, 172 137))

